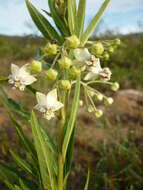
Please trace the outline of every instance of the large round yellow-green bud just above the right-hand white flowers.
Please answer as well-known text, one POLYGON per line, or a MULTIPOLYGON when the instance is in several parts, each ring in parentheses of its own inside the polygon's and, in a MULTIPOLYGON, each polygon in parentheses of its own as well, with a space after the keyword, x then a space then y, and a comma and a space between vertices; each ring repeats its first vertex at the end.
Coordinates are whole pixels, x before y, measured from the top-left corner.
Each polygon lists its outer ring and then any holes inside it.
POLYGON ((91 53, 96 56, 102 55, 104 52, 104 46, 101 42, 94 43, 91 47, 91 53))

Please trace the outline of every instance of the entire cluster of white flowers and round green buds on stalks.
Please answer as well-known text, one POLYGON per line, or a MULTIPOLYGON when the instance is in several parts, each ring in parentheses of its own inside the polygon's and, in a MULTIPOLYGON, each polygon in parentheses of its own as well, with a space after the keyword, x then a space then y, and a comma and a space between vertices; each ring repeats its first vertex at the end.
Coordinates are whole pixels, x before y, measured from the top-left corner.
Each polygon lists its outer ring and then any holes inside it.
MULTIPOLYGON (((11 65, 9 83, 13 85, 13 88, 23 91, 27 85, 37 81, 38 74, 44 75, 46 80, 51 81, 54 90, 52 89, 47 95, 37 92, 38 104, 35 106, 44 118, 50 120, 55 117, 56 111, 64 107, 63 92, 70 92, 76 79, 80 77, 87 111, 94 112, 96 117, 101 117, 103 112, 96 108, 95 101, 103 101, 105 105, 111 105, 113 99, 99 92, 95 85, 106 84, 113 91, 119 89, 117 82, 110 82, 111 70, 101 64, 102 61, 109 59, 110 54, 119 44, 119 39, 88 41, 82 47, 75 35, 66 38, 62 46, 58 46, 55 41, 48 43, 41 50, 40 60, 34 60, 21 68, 11 65)), ((79 102, 80 105, 81 102, 79 102)))

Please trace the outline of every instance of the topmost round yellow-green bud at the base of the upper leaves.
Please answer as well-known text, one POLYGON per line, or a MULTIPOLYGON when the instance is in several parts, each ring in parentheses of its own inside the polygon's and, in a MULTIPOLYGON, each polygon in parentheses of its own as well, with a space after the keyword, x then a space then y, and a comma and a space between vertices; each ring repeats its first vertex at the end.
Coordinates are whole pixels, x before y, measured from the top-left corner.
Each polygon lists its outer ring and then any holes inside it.
POLYGON ((66 44, 69 48, 76 49, 78 48, 80 41, 76 35, 73 35, 67 38, 66 44))

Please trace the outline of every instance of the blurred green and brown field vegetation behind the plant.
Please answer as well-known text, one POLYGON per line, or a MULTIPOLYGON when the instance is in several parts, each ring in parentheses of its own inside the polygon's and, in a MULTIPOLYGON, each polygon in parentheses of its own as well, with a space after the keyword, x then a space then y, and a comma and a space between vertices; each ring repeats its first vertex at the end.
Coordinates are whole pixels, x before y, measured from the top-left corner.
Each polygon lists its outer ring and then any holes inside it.
MULTIPOLYGON (((112 33, 102 36, 103 39, 115 37, 112 33)), ((113 72, 112 80, 118 81, 121 89, 114 95, 113 106, 98 105, 105 110, 101 120, 95 120, 80 108, 69 190, 83 189, 88 167, 91 172, 89 190, 143 189, 143 34, 118 37, 121 46, 106 65, 113 72)), ((23 64, 32 60, 37 49, 45 44, 40 37, 0 36, 0 76, 8 75, 12 62, 23 64)), ((28 92, 23 96, 8 86, 5 90, 23 106, 28 105, 31 109, 34 105, 28 92)), ((106 89, 103 87, 103 90, 106 89)), ((48 125, 47 130, 52 136, 55 127, 48 125)), ((24 123, 23 128, 31 135, 30 128, 24 123)), ((13 166, 9 149, 23 154, 12 124, 0 107, 0 159, 13 166)), ((0 189, 5 190, 3 184, 0 189)))

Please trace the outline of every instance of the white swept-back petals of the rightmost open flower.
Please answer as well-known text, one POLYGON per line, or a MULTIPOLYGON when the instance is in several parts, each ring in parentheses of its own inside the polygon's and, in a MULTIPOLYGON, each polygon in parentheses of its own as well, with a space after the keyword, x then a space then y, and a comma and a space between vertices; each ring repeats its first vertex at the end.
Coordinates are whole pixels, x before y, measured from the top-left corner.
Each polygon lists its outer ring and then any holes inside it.
POLYGON ((100 60, 96 59, 96 61, 93 63, 93 66, 89 68, 89 73, 85 76, 84 80, 95 80, 102 70, 103 69, 101 68, 100 60))

